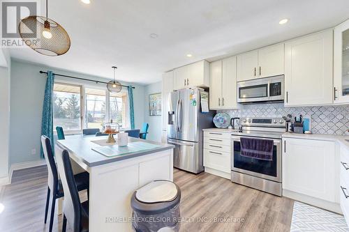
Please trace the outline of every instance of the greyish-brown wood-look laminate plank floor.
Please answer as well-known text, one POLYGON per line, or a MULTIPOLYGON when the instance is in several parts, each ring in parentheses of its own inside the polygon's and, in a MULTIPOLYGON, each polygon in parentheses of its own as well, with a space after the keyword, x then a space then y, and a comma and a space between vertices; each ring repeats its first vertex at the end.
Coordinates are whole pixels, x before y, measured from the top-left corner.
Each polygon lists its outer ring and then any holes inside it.
MULTIPOLYGON (((181 231, 290 231, 293 203, 230 180, 174 169, 174 182, 181 188, 181 231)), ((0 231, 47 231, 44 224, 47 194, 45 166, 13 173, 12 183, 0 191, 5 209, 0 231)), ((86 192, 82 192, 86 198, 86 192)), ((58 221, 58 222, 57 222, 58 221)), ((61 216, 54 230, 61 231, 61 216)), ((68 231, 68 230, 67 230, 68 231)))

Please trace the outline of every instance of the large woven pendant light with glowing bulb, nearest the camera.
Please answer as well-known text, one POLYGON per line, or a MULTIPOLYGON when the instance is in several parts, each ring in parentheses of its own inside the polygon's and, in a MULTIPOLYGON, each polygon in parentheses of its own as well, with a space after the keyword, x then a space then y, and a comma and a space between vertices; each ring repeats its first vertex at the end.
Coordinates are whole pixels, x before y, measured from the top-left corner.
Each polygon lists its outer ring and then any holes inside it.
POLYGON ((25 44, 34 51, 46 56, 60 56, 68 52, 70 38, 61 25, 47 17, 47 9, 46 0, 46 17, 29 15, 20 21, 18 31, 25 44))

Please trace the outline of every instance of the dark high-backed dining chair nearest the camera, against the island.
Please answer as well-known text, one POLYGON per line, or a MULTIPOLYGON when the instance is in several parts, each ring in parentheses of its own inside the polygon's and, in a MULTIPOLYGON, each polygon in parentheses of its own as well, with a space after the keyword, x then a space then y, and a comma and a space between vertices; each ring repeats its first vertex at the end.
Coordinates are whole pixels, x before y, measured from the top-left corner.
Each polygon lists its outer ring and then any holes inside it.
POLYGON ((63 189, 66 193, 64 196, 62 231, 66 232, 68 222, 73 232, 87 232, 89 231, 89 201, 80 202, 68 150, 56 145, 55 152, 63 189))

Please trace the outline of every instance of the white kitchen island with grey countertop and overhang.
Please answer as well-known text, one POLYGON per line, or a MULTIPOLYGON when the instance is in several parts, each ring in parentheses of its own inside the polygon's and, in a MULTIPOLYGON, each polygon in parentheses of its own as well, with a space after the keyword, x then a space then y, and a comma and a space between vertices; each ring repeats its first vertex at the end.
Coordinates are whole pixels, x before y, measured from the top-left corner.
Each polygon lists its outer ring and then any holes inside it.
POLYGON ((89 172, 89 231, 132 231, 131 195, 152 180, 173 180, 174 146, 128 137, 157 146, 112 157, 92 150, 106 139, 74 135, 57 146, 68 150, 73 169, 89 172))

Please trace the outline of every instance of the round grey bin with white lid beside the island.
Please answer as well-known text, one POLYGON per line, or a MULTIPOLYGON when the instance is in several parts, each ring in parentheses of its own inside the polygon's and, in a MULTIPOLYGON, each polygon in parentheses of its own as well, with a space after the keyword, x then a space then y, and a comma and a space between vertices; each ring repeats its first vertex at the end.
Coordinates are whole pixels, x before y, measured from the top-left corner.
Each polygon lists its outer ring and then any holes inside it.
POLYGON ((154 180, 131 196, 136 232, 179 231, 181 190, 169 180, 154 180))

